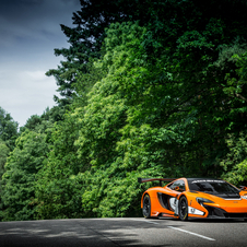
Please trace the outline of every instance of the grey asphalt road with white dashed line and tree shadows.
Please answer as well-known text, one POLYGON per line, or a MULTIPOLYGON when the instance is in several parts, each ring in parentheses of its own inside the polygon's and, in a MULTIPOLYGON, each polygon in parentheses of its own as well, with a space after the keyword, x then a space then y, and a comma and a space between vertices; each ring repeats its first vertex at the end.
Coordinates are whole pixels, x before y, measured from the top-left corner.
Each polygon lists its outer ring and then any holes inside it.
POLYGON ((247 246, 247 222, 78 219, 0 222, 5 246, 247 246))

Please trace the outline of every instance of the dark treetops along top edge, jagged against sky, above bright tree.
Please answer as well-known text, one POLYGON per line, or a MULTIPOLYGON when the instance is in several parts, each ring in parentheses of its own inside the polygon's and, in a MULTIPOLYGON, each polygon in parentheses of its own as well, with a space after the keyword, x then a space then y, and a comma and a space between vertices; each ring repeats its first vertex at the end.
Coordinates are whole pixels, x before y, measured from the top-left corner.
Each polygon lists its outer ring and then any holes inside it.
MULTIPOLYGON (((86 63, 90 58, 99 58, 102 44, 106 37, 105 28, 110 23, 139 21, 141 26, 150 26, 146 47, 152 52, 152 44, 165 39, 166 46, 174 52, 174 45, 179 36, 196 37, 195 31, 202 31, 208 26, 219 26, 224 30, 226 43, 237 35, 245 36, 246 1, 150 1, 150 0, 117 0, 101 2, 81 0, 81 10, 73 13, 74 27, 61 25, 61 30, 71 45, 68 49, 55 49, 56 56, 63 56, 58 69, 51 69, 47 75, 54 75, 62 98, 56 97, 60 104, 71 103, 75 92, 77 75, 87 73, 86 63), (230 11, 231 10, 231 11, 230 11), (231 16, 231 17, 230 17, 231 16), (234 20, 234 21, 233 21, 234 20), (191 34, 191 35, 190 35, 191 34), (165 37, 165 38, 164 38, 165 37)), ((223 33, 222 33, 223 34, 223 33)), ((212 39, 222 42, 221 33, 211 35, 212 39)), ((189 39, 188 39, 189 40, 189 39)))

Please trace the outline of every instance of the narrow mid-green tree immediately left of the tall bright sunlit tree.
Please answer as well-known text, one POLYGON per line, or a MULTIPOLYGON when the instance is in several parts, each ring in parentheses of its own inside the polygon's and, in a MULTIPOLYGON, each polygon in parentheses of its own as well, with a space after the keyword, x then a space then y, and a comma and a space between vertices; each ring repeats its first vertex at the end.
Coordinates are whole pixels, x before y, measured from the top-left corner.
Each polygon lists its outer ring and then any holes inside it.
POLYGON ((77 175, 83 166, 73 145, 79 126, 75 114, 64 115, 64 120, 55 124, 50 136, 50 151, 46 164, 37 173, 35 197, 37 219, 80 217, 81 185, 77 175))

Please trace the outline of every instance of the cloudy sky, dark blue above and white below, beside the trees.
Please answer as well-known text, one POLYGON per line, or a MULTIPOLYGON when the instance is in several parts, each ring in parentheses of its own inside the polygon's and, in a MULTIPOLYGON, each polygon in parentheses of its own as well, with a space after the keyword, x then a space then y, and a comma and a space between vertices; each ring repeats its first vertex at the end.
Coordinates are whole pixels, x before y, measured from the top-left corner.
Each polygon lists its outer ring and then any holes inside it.
POLYGON ((54 49, 69 47, 60 24, 72 26, 80 9, 80 0, 0 0, 0 106, 19 127, 55 105, 45 72, 62 60, 54 49))

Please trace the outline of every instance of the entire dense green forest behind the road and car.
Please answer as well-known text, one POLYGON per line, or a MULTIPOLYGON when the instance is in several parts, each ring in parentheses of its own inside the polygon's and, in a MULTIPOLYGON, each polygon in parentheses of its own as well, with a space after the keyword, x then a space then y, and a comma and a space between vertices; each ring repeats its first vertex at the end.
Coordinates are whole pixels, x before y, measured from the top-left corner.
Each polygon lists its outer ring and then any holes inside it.
POLYGON ((140 215, 138 177, 247 185, 247 1, 81 0, 57 105, 0 108, 0 221, 140 215))

